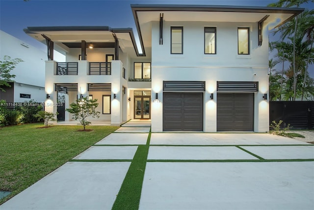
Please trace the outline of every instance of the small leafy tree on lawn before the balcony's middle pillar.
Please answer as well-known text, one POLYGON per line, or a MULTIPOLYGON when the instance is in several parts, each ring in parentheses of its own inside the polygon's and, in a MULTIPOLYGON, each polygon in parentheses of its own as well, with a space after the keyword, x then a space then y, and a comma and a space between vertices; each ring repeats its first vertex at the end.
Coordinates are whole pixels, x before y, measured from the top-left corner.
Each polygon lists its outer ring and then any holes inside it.
POLYGON ((83 125, 84 130, 85 126, 91 123, 86 120, 87 117, 99 118, 100 112, 96 111, 97 99, 79 98, 77 103, 70 104, 70 107, 71 109, 66 109, 66 111, 74 115, 72 119, 78 120, 83 125))

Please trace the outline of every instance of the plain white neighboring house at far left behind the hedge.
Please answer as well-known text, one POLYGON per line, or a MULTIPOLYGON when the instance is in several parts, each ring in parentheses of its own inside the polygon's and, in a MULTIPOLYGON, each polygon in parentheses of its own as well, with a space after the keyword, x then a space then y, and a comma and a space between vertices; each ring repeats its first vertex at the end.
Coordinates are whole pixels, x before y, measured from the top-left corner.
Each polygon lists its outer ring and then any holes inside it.
POLYGON ((16 65, 10 73, 16 75, 12 78, 11 87, 1 87, 0 99, 9 103, 18 103, 29 100, 44 102, 45 93, 45 60, 44 51, 33 47, 26 42, 0 30, 0 58, 10 56, 19 58, 23 62, 16 65))

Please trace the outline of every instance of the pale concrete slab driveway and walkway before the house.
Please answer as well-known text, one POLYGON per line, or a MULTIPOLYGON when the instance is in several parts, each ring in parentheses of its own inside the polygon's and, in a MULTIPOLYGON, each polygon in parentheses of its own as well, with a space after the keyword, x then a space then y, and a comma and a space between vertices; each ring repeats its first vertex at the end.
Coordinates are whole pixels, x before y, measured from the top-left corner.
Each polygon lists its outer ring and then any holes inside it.
MULTIPOLYGON (((0 210, 110 210, 149 136, 150 127, 130 123, 0 210)), ((152 133, 139 209, 313 210, 314 145, 258 133, 152 133)))

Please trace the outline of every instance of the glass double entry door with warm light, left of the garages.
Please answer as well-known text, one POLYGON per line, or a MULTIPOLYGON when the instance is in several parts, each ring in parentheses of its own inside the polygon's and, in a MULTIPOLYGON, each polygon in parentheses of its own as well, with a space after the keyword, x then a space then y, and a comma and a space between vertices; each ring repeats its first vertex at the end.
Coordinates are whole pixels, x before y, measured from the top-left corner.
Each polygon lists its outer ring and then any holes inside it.
POLYGON ((151 119, 151 96, 134 96, 134 119, 151 119))

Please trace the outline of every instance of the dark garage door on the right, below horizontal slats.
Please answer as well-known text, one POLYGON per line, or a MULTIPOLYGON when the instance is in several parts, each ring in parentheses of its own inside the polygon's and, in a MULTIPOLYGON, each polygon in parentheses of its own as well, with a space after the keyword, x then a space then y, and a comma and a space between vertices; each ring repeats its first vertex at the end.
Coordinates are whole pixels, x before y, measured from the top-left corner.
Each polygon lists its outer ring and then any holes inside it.
POLYGON ((217 131, 254 130, 254 93, 217 93, 217 131))

